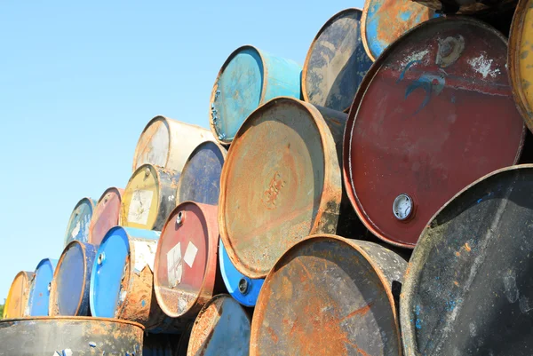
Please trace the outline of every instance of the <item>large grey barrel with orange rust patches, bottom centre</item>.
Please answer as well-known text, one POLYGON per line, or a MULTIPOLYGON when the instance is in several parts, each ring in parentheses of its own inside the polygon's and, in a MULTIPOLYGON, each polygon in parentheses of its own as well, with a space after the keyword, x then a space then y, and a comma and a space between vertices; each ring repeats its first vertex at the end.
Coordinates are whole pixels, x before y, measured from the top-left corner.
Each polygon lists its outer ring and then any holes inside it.
POLYGON ((407 263, 368 241, 314 235, 275 264, 251 322, 250 355, 402 355, 407 263))

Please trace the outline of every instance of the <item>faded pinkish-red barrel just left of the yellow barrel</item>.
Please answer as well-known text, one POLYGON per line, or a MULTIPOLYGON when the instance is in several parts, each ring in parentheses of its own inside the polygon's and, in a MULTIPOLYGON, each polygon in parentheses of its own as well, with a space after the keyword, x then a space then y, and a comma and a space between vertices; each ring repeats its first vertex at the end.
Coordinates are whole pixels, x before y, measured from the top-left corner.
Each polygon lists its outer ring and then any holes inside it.
POLYGON ((89 243, 99 246, 106 233, 118 225, 124 190, 110 187, 100 196, 89 225, 89 243))

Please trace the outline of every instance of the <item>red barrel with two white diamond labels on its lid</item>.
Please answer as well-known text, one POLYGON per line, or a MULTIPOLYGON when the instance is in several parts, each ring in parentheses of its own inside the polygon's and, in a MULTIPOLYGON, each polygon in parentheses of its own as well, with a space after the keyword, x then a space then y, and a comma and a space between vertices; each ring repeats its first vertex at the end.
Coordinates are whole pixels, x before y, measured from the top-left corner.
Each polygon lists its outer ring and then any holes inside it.
POLYGON ((164 225, 155 255, 155 296, 182 325, 222 287, 218 246, 216 206, 183 202, 164 225))

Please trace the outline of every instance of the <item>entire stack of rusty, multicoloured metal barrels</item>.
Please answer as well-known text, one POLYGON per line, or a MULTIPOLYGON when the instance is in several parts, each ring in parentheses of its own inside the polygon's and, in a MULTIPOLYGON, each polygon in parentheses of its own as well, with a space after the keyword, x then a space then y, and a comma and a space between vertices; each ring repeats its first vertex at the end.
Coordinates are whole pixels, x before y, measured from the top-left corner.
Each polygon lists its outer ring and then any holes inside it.
POLYGON ((532 25, 367 0, 303 68, 235 50, 211 131, 156 116, 17 274, 5 354, 532 354, 532 25))

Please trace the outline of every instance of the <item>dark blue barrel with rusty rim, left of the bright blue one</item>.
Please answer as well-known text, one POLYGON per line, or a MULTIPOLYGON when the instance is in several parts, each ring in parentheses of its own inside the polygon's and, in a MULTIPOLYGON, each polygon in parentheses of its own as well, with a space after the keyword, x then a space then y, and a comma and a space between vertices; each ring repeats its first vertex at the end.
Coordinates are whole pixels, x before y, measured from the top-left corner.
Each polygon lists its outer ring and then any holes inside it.
POLYGON ((80 241, 70 242, 60 257, 52 280, 50 316, 89 315, 89 287, 96 247, 80 241))

